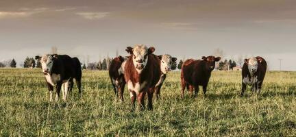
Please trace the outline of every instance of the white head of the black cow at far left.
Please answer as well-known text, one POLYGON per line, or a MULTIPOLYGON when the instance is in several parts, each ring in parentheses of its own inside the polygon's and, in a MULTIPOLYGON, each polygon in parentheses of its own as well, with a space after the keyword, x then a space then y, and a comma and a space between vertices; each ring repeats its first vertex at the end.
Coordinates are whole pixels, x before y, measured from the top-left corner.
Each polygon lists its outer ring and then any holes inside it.
POLYGON ((52 67, 53 67, 53 61, 58 58, 58 55, 42 55, 41 56, 36 56, 36 60, 40 60, 41 66, 42 66, 42 72, 47 75, 51 73, 52 67))

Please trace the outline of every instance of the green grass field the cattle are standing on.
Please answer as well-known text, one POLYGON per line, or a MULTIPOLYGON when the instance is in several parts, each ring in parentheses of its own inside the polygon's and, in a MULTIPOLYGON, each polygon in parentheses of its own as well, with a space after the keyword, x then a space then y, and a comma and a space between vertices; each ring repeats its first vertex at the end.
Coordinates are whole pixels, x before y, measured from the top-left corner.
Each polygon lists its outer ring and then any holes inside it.
POLYGON ((83 97, 75 88, 53 103, 40 69, 0 75, 0 136, 296 136, 296 72, 268 72, 258 97, 249 88, 238 96, 240 72, 213 72, 208 97, 195 99, 180 99, 173 72, 143 112, 130 112, 126 89, 125 101, 114 101, 107 71, 83 71, 83 97))

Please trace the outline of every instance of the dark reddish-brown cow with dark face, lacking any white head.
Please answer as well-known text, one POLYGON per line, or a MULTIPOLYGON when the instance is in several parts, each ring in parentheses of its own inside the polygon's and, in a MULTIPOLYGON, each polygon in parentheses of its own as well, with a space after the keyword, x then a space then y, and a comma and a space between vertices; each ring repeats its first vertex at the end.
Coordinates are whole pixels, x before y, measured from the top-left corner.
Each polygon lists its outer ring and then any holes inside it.
POLYGON ((195 89, 195 96, 199 92, 199 86, 203 87, 204 97, 206 97, 206 90, 210 75, 215 67, 215 62, 219 62, 220 57, 214 57, 212 55, 202 57, 202 60, 186 60, 181 69, 181 84, 182 92, 181 97, 184 97, 185 87, 190 91, 193 97, 193 88, 195 89))

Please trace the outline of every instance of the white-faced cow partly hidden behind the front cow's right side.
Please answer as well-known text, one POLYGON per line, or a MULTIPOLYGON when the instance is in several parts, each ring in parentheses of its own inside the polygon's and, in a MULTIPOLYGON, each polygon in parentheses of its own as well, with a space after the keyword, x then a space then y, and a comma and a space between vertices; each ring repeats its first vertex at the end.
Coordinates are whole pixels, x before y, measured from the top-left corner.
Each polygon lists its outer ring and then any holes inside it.
POLYGON ((161 74, 160 74, 160 80, 156 84, 156 88, 154 91, 156 94, 156 99, 160 98, 160 88, 162 87, 162 84, 167 77, 167 73, 171 71, 171 65, 173 64, 173 62, 177 61, 177 58, 173 58, 171 55, 168 55, 168 54, 158 55, 158 59, 159 59, 158 63, 160 64, 161 74))

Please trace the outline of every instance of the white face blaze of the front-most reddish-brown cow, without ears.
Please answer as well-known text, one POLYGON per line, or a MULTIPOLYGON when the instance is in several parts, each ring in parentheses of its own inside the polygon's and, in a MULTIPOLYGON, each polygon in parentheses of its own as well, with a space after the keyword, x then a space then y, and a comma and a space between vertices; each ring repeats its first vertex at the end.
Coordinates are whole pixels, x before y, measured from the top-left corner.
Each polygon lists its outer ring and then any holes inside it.
POLYGON ((148 51, 145 45, 136 45, 133 49, 132 60, 136 71, 141 73, 148 62, 148 51))

